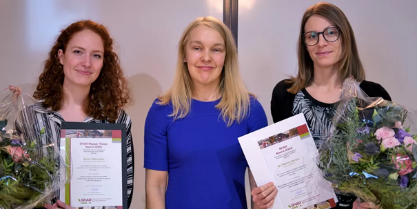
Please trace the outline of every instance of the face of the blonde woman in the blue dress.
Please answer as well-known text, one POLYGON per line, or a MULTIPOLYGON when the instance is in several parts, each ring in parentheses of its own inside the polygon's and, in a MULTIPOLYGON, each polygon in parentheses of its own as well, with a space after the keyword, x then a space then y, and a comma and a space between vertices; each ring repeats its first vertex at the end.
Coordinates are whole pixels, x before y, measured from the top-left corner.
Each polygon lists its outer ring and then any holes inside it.
POLYGON ((190 32, 184 62, 194 85, 219 85, 225 57, 225 40, 216 30, 200 25, 190 32))

